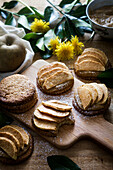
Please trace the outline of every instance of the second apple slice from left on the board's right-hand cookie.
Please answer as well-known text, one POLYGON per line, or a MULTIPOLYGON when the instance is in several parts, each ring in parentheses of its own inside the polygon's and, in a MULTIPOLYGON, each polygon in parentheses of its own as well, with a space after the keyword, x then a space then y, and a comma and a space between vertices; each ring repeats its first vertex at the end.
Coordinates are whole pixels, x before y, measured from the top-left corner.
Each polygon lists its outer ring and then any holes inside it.
POLYGON ((97 97, 98 97, 97 90, 91 84, 85 84, 84 87, 87 87, 91 91, 91 94, 92 94, 92 103, 91 103, 91 105, 93 105, 96 102, 97 97))

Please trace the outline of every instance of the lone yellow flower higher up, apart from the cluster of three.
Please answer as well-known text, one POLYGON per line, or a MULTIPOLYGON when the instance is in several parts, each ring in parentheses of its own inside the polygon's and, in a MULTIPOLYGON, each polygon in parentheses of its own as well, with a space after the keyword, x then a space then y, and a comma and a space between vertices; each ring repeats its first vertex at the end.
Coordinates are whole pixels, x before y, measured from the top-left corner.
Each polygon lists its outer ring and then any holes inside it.
POLYGON ((44 22, 41 19, 34 19, 31 24, 31 30, 38 33, 46 33, 50 29, 49 22, 44 22))

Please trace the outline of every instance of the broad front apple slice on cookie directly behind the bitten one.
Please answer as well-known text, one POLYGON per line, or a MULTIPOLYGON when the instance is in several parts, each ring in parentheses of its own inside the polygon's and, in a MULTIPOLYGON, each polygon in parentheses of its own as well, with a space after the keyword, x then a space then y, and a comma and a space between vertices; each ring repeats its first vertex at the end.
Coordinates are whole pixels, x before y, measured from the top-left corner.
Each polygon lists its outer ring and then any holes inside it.
POLYGON ((43 84, 43 88, 49 90, 59 84, 62 84, 64 82, 72 80, 72 79, 74 79, 74 78, 70 72, 58 71, 45 80, 45 82, 43 84))

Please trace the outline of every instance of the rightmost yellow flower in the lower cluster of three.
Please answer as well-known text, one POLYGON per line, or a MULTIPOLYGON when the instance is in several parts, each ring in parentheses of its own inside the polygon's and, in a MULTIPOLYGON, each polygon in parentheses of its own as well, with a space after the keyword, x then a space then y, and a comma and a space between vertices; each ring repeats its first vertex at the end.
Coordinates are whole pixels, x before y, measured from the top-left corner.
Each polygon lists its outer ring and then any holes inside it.
POLYGON ((72 45, 74 47, 74 53, 76 56, 82 53, 82 47, 84 47, 84 44, 82 42, 79 42, 78 37, 75 36, 71 38, 72 45))

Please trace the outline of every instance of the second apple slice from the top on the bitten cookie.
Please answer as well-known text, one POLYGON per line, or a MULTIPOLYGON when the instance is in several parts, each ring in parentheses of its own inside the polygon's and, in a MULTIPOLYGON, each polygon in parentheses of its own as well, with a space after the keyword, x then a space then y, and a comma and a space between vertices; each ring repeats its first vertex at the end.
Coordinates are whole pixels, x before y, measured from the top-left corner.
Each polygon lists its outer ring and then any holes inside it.
POLYGON ((41 113, 45 113, 45 114, 55 116, 55 117, 66 117, 66 116, 68 116, 70 114, 70 112, 60 112, 60 111, 56 111, 54 109, 47 108, 42 104, 40 104, 37 109, 41 113))

